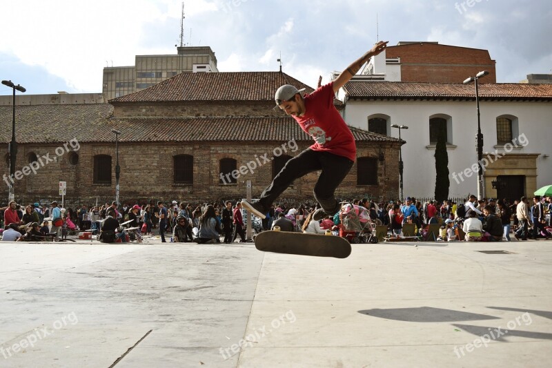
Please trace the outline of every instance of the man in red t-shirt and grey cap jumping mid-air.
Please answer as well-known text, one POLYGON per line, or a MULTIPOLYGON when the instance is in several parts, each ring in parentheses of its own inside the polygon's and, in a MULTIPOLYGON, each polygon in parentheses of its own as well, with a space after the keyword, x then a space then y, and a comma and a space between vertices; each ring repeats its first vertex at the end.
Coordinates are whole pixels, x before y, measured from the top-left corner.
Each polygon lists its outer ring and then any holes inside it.
POLYGON ((265 218, 270 205, 288 186, 299 177, 322 170, 314 188, 317 202, 322 206, 313 215, 322 220, 339 211, 335 189, 344 180, 355 163, 356 146, 353 133, 333 105, 335 93, 355 75, 371 57, 382 52, 387 41, 380 41, 360 59, 348 66, 335 81, 317 88, 310 95, 302 96, 304 89, 297 90, 286 84, 276 91, 276 105, 291 115, 302 130, 311 135, 315 143, 290 159, 282 171, 262 193, 258 202, 242 201, 245 209, 257 217, 265 218))

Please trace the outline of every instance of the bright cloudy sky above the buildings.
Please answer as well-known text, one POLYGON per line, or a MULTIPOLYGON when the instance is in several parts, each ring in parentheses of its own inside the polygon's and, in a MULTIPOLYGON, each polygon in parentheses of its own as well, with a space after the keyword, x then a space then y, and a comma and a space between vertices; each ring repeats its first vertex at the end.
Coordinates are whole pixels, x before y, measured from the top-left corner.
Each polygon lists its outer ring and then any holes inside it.
MULTIPOLYGON (((497 81, 517 82, 552 73, 551 9, 545 0, 187 0, 184 43, 210 46, 221 72, 278 70, 282 52, 284 72, 315 86, 371 48, 377 14, 380 40, 486 49, 497 81)), ((0 14, 0 79, 29 94, 100 93, 104 66, 177 53, 181 0, 12 0, 0 14)))

